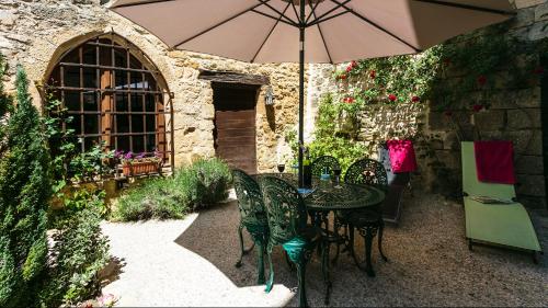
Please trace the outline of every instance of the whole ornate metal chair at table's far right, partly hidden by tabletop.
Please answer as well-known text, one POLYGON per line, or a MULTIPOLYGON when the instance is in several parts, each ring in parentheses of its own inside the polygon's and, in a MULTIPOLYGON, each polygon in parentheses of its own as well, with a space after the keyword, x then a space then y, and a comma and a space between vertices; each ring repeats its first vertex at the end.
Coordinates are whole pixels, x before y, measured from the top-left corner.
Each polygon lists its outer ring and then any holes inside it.
MULTIPOLYGON (((356 185, 373 185, 383 191, 387 191, 388 178, 383 163, 373 159, 361 159, 355 161, 344 175, 344 182, 356 185)), ((356 229, 365 240, 365 259, 366 264, 370 264, 370 251, 373 239, 378 233, 378 250, 383 260, 388 261, 383 252, 383 231, 385 229, 385 221, 383 219, 383 205, 379 204, 375 207, 338 212, 335 226, 345 227, 349 232, 350 250, 352 258, 356 265, 367 272, 369 276, 375 276, 375 272, 369 266, 363 266, 357 260, 354 250, 354 229, 356 229)))

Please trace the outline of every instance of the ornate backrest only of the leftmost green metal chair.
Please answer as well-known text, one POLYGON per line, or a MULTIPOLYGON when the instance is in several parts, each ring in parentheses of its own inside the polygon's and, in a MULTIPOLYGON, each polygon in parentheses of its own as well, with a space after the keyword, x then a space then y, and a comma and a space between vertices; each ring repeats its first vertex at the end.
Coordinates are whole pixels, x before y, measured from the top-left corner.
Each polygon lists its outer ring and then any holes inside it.
POLYGON ((239 169, 232 170, 232 178, 241 221, 246 226, 267 226, 266 209, 264 208, 263 196, 256 181, 239 169))

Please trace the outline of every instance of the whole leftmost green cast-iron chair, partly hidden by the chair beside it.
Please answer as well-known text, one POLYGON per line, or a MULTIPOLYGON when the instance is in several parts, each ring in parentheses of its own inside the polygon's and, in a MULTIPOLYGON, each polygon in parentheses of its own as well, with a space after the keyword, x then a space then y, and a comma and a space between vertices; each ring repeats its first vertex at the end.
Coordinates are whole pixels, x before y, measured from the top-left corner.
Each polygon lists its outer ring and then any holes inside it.
POLYGON ((240 224, 238 236, 240 238, 240 259, 236 263, 241 266, 243 254, 250 252, 256 246, 258 254, 258 284, 265 283, 264 278, 264 252, 269 242, 269 221, 263 204, 263 197, 259 184, 250 175, 239 169, 232 170, 236 196, 238 197, 238 208, 240 209, 240 224), (243 228, 248 230, 253 239, 253 246, 246 250, 243 248, 243 228))

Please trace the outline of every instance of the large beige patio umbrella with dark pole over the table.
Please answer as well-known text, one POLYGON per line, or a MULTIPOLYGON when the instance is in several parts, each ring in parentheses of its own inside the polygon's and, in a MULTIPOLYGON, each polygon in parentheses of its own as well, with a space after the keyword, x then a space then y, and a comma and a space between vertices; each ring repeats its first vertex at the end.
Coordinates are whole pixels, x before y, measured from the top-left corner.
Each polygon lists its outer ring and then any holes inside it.
POLYGON ((117 0, 111 9, 171 48, 299 62, 299 186, 305 61, 420 53, 515 14, 507 0, 117 0))

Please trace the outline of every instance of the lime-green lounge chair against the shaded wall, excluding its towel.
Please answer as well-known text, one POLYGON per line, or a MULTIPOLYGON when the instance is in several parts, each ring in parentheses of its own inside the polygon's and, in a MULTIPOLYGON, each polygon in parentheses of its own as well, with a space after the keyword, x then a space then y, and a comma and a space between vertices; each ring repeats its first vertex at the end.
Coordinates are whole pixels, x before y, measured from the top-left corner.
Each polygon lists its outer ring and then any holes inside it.
POLYGON ((468 248, 475 243, 503 246, 529 251, 535 263, 541 252, 525 207, 515 202, 514 185, 478 181, 473 142, 463 142, 463 191, 468 248), (491 198, 492 204, 486 198, 491 198), (496 202, 501 201, 501 202, 496 202))

